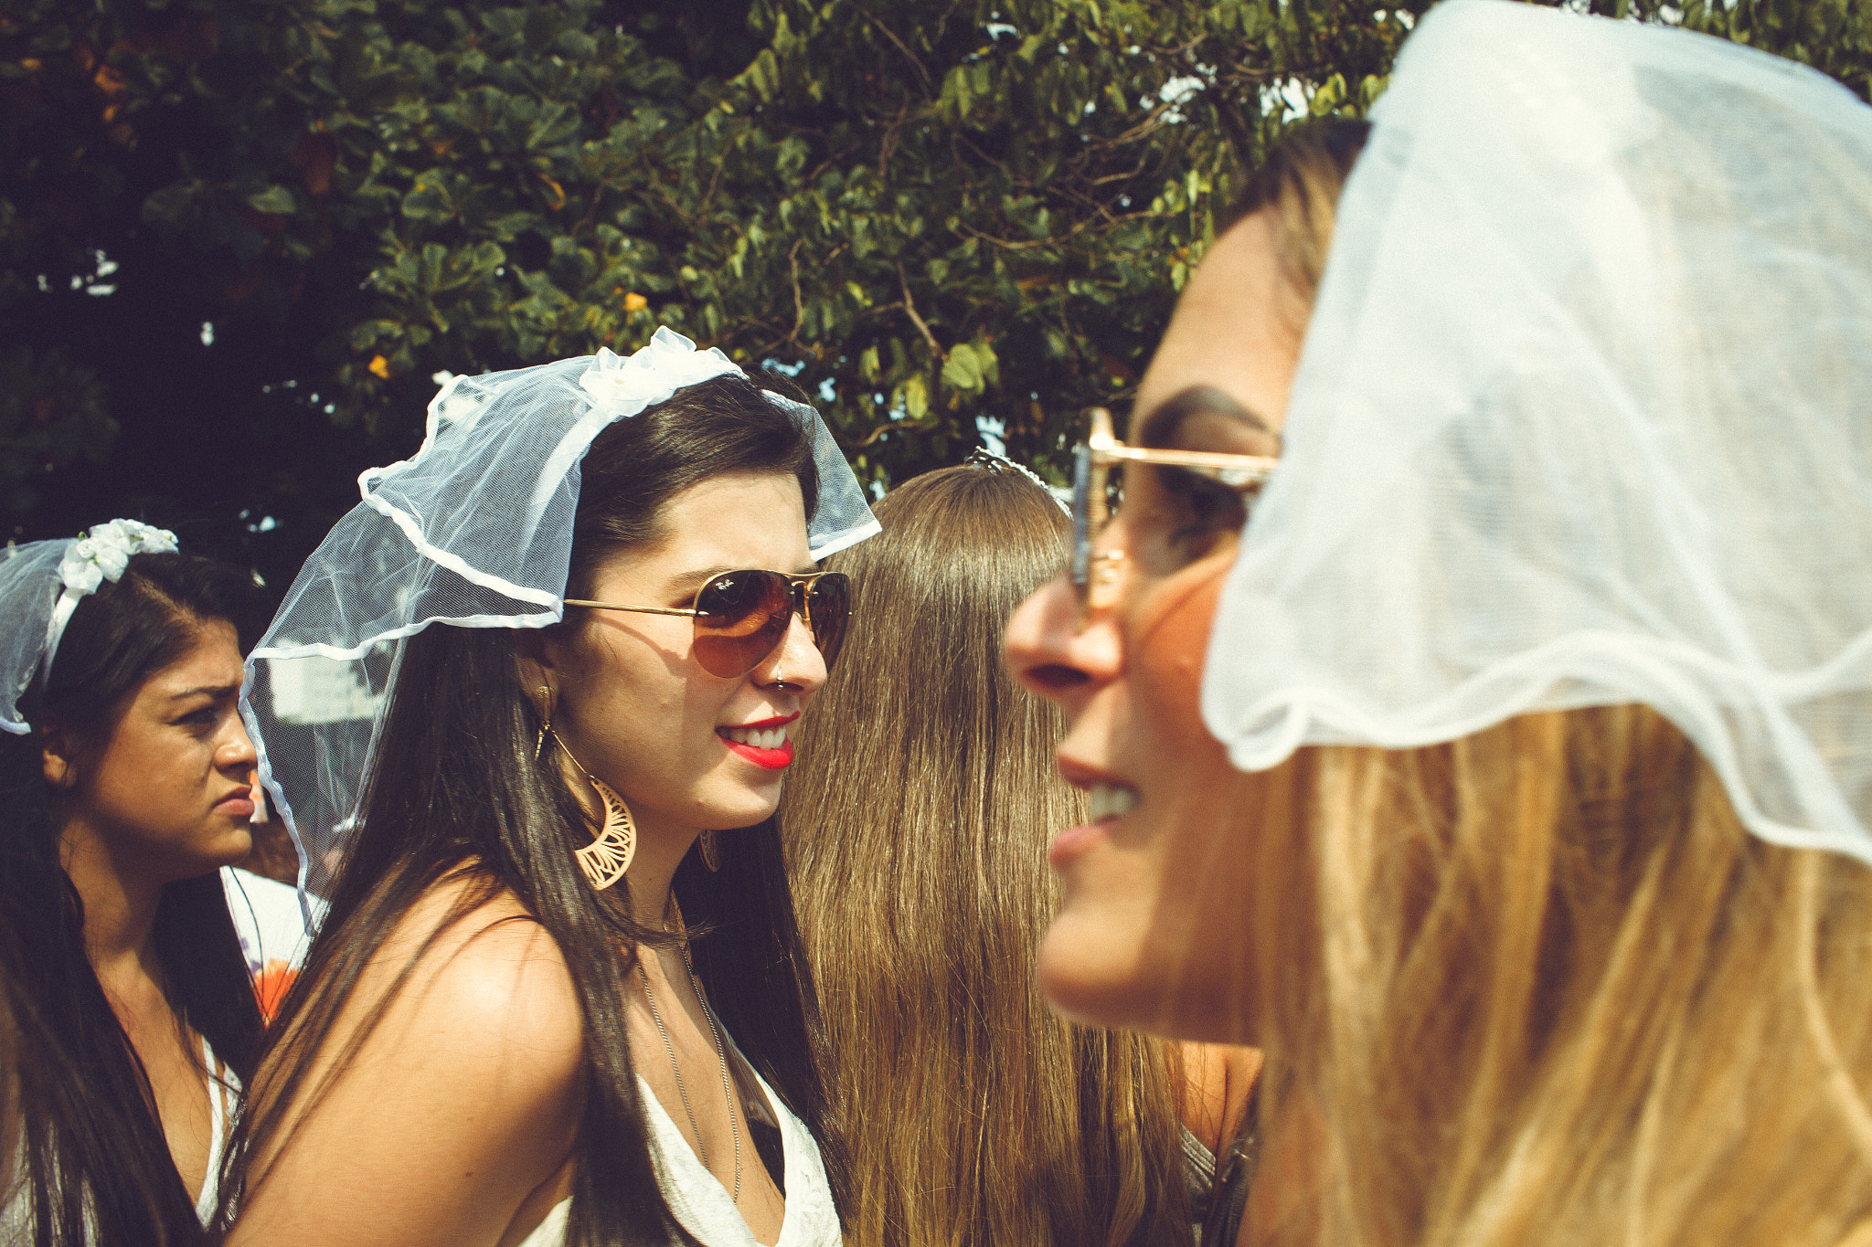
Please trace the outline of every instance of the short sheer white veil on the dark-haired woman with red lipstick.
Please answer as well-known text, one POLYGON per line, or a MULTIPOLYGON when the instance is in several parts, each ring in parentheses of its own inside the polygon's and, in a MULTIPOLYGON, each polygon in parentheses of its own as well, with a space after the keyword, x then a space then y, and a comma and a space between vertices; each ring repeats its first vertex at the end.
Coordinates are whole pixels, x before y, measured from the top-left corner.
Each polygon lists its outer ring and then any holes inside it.
MULTIPOLYGON (((629 357, 597 355, 453 378, 429 404, 421 449, 358 479, 247 658, 241 714, 260 780, 320 890, 358 815, 397 641, 429 624, 545 628, 563 613, 578 464, 608 424, 717 376, 719 350, 657 329, 629 357)), ((863 486, 811 406, 768 394, 812 439, 820 559, 878 531, 863 486)))

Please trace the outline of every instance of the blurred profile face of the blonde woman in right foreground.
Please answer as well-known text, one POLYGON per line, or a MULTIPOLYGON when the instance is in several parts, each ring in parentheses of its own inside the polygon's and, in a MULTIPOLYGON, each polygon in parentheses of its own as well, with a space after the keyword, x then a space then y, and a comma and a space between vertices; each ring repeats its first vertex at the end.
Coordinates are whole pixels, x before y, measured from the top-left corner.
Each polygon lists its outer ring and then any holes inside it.
MULTIPOLYGON (((1129 441, 1279 454, 1299 357, 1295 305, 1271 219, 1243 219, 1179 299, 1129 441)), ((1080 626, 1061 576, 1007 628, 1015 677, 1071 724, 1061 774, 1093 796, 1093 821, 1054 838, 1061 907, 1039 959, 1048 998, 1086 1023, 1252 1039, 1239 953, 1249 853, 1226 830, 1237 776, 1198 707, 1243 520, 1241 499, 1221 486, 1131 466, 1097 544, 1118 555, 1114 604, 1080 626)))

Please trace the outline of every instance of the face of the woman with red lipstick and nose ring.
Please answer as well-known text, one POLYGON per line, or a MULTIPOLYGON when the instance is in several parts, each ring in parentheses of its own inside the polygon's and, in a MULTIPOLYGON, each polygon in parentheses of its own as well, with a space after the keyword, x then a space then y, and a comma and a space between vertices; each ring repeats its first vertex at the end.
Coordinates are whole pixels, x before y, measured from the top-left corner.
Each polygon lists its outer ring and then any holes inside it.
MULTIPOLYGON (((814 570, 790 473, 711 477, 670 499, 661 520, 663 540, 599 565, 593 600, 687 608, 715 572, 814 570)), ((590 609, 543 651, 556 694, 552 729, 646 832, 726 830, 771 815, 792 753, 792 740, 773 733, 790 735, 826 682, 826 662, 797 615, 781 645, 734 679, 696 662, 687 615, 590 609), (769 735, 751 748, 749 731, 769 735)))

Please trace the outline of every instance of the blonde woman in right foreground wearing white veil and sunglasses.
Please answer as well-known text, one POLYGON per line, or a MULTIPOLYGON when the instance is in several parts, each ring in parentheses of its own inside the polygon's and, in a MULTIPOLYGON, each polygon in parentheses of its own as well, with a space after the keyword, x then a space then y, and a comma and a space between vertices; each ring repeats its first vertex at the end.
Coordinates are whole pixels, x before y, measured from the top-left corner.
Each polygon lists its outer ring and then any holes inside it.
POLYGON ((1820 75, 1451 0, 1310 322, 1305 196, 1191 282, 1133 428, 1241 458, 1007 651, 1134 796, 1043 982, 1265 1047, 1264 1241, 1872 1241, 1868 168, 1820 75))

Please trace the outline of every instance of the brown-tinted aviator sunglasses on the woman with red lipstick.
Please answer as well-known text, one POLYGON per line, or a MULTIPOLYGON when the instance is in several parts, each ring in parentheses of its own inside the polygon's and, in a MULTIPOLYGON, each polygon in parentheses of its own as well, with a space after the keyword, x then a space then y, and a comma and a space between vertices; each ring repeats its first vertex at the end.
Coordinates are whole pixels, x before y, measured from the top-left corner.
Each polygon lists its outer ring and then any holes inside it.
POLYGON ((844 572, 715 572, 696 589, 695 606, 623 606, 565 598, 565 606, 638 615, 693 615, 696 623, 696 662, 709 675, 738 679, 781 647, 794 615, 812 632, 812 643, 827 669, 844 645, 844 624, 852 617, 852 580, 844 572))

